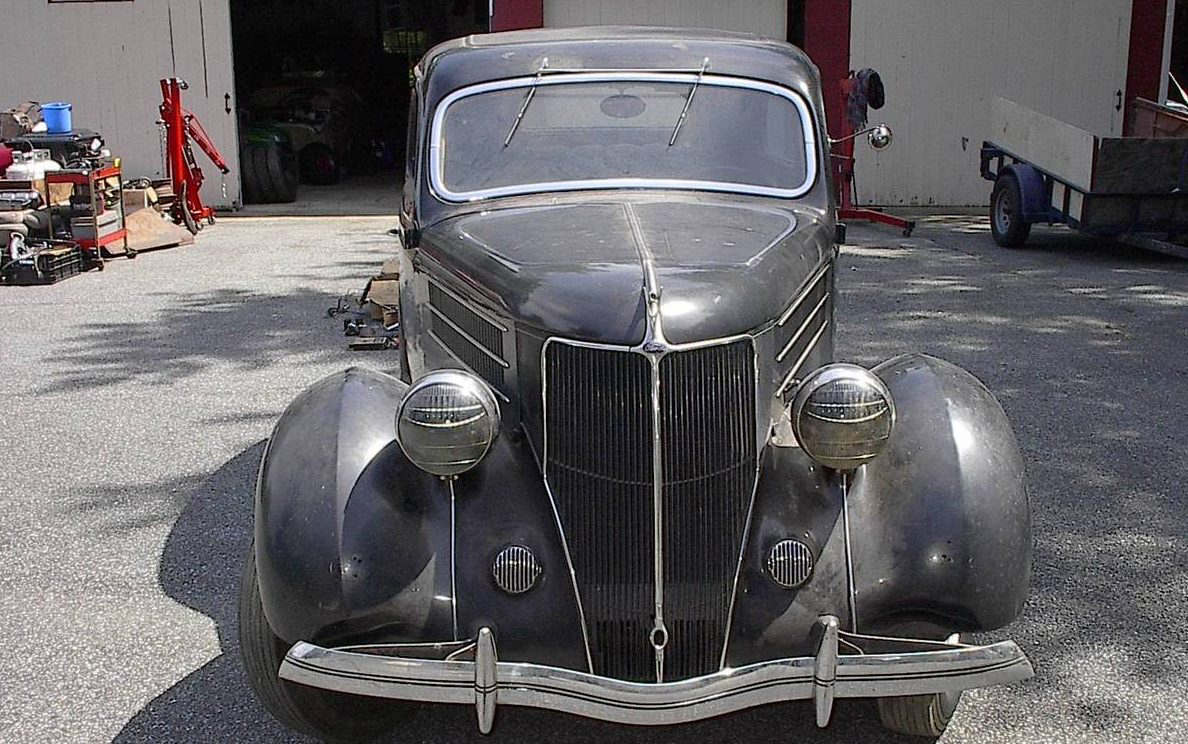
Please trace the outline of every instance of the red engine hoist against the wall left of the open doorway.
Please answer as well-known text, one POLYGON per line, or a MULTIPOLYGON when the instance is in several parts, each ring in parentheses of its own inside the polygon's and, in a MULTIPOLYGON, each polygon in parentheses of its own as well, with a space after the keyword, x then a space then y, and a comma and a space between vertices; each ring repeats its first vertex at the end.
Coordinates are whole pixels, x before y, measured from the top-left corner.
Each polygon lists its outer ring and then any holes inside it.
MULTIPOLYGON (((160 125, 164 128, 163 159, 165 175, 173 184, 172 217, 191 233, 202 228, 202 222, 214 225, 215 210, 202 203, 202 169, 194 159, 191 143, 207 153, 215 168, 226 176, 230 172, 227 160, 210 141, 198 119, 182 107, 182 92, 189 89, 184 80, 171 77, 160 81, 160 125)), ((227 183, 223 181, 223 195, 227 183)))

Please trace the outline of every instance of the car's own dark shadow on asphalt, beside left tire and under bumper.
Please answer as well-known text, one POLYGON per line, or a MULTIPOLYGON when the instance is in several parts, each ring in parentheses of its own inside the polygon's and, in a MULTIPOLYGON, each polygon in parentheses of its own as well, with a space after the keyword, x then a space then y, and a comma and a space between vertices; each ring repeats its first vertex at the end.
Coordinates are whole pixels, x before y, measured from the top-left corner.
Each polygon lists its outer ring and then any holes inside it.
MULTIPOLYGON (((252 491, 264 442, 248 447, 208 478, 187 480, 184 507, 160 560, 162 589, 210 617, 222 654, 146 705, 115 737, 132 742, 303 742, 273 721, 247 686, 236 639, 239 576, 251 544, 252 491)), ((179 481, 181 484, 181 481, 179 481)), ((175 487, 179 484, 175 484, 175 487)), ((158 485, 154 488, 166 488, 158 485)), ((665 729, 632 729, 549 711, 504 707, 491 736, 478 732, 470 706, 423 706, 380 742, 657 742, 683 744, 747 740, 840 743, 918 742, 880 730, 873 706, 839 701, 834 723, 819 730, 809 704, 781 704, 735 715, 665 729)))

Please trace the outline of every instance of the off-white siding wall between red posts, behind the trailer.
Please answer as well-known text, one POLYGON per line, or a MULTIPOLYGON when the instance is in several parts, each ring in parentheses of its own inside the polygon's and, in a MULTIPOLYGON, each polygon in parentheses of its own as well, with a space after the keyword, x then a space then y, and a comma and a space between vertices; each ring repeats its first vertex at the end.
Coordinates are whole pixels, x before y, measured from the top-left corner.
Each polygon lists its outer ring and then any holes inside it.
POLYGON ((1003 96, 1095 134, 1120 134, 1131 0, 853 0, 851 68, 883 75, 895 144, 860 145, 871 204, 985 204, 978 174, 1003 96))

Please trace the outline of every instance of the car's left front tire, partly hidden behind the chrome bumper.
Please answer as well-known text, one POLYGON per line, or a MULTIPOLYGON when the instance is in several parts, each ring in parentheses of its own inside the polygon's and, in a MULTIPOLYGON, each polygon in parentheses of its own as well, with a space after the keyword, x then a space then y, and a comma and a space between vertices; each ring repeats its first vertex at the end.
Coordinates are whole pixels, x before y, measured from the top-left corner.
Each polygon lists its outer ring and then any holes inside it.
POLYGON ((255 547, 239 587, 239 651, 247 681, 264 708, 285 726, 326 742, 366 742, 390 731, 405 707, 287 682, 277 676, 289 644, 272 632, 255 574, 255 547))

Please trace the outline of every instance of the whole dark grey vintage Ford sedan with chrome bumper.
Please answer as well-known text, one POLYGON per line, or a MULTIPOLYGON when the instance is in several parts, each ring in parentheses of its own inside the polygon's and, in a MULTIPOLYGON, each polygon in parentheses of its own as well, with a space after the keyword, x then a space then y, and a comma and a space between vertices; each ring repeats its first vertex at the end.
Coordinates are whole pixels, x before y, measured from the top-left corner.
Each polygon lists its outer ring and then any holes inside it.
POLYGON ((260 467, 240 644, 276 718, 347 739, 410 704, 487 732, 504 705, 657 725, 810 700, 824 726, 867 698, 937 736, 961 691, 1032 674, 961 639, 1028 592, 1001 408, 931 357, 834 361, 801 51, 497 33, 430 51, 413 95, 404 379, 314 385, 260 467))

